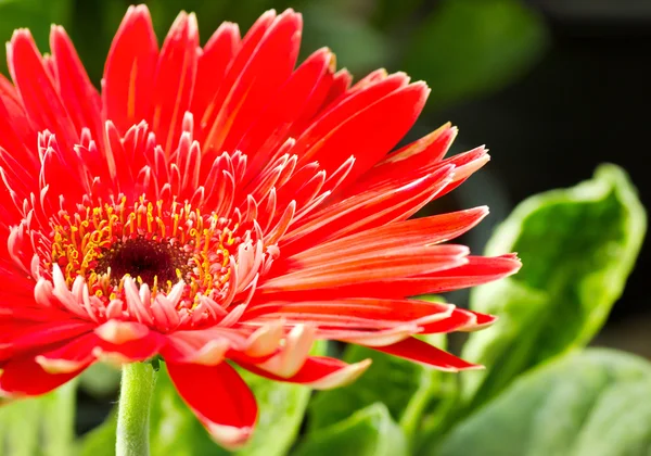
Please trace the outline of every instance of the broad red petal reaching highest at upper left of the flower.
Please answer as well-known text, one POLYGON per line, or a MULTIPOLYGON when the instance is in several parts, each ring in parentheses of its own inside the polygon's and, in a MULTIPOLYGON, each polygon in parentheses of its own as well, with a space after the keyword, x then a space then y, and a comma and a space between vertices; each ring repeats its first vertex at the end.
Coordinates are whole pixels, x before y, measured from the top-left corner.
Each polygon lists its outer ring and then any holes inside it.
POLYGON ((158 45, 145 5, 129 7, 104 67, 102 100, 104 118, 120 132, 148 119, 151 112, 158 45))

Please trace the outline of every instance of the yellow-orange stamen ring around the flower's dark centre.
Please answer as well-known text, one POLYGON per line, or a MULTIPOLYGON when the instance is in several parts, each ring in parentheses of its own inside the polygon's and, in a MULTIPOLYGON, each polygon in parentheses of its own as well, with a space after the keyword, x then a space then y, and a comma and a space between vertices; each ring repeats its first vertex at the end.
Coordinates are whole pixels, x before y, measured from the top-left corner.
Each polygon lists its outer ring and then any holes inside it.
POLYGON ((51 255, 42 258, 43 269, 56 264, 68 287, 81 277, 90 294, 114 300, 123 294, 125 277, 148 284, 154 295, 182 281, 179 306, 184 308, 193 308, 199 295, 216 301, 232 295, 233 261, 242 245, 254 245, 258 237, 188 203, 144 198, 130 205, 120 198, 119 203, 60 213, 51 227, 51 255))

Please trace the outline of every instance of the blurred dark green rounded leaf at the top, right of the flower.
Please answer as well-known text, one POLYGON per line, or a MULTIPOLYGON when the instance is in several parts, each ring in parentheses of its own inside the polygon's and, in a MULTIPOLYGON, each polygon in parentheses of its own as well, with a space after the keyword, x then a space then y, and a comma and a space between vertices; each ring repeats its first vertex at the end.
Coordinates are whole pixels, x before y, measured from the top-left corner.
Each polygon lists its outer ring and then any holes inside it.
POLYGON ((518 0, 445 0, 408 46, 404 68, 432 88, 438 109, 510 84, 547 45, 542 20, 518 0))

